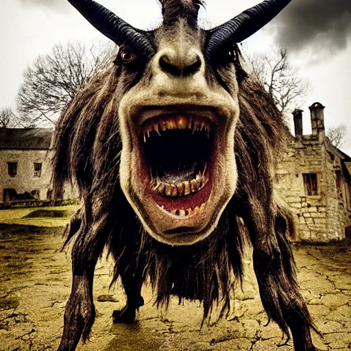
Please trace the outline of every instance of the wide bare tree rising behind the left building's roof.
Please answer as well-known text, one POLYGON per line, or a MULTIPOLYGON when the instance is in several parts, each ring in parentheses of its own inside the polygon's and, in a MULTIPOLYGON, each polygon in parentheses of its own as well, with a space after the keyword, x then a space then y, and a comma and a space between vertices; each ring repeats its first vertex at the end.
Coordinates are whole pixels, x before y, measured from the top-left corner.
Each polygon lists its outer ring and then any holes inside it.
POLYGON ((112 45, 69 42, 38 56, 23 74, 17 95, 19 121, 25 128, 52 126, 64 106, 112 60, 112 45))

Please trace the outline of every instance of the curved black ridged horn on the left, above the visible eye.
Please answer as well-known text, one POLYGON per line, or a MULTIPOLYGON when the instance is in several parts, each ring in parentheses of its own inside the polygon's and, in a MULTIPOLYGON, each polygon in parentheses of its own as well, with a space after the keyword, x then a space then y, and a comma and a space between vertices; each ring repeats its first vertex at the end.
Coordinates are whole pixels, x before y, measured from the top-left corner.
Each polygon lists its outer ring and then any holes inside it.
POLYGON ((117 45, 131 43, 139 53, 150 58, 154 49, 141 31, 123 21, 93 0, 68 0, 99 32, 117 45))

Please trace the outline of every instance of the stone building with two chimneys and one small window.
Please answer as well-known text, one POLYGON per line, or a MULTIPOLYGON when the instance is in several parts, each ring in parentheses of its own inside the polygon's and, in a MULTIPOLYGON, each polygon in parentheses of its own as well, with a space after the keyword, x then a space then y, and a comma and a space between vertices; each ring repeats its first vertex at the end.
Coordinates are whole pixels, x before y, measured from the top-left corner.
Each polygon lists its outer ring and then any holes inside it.
POLYGON ((310 135, 302 131, 303 111, 293 112, 295 137, 278 157, 276 189, 296 214, 298 241, 341 240, 351 218, 351 158, 325 136, 324 106, 309 109, 310 135))

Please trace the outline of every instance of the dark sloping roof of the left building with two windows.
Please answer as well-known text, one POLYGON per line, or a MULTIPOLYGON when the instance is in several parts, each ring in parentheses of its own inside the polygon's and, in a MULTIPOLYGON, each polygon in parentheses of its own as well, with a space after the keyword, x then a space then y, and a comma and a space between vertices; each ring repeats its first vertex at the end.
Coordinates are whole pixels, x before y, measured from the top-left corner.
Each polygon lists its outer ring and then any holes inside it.
POLYGON ((52 134, 51 128, 0 128, 0 149, 48 150, 52 134))

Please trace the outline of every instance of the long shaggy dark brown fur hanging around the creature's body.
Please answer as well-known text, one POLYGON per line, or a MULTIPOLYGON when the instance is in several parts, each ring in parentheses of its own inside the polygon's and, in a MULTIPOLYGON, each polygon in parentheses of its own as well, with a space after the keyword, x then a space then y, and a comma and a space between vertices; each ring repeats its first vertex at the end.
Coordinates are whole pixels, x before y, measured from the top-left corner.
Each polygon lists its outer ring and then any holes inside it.
MULTIPOLYGON (((222 315, 229 311, 232 289, 243 274, 243 246, 250 237, 263 305, 289 335, 287 311, 300 310, 290 306, 287 295, 295 295, 296 301, 302 298, 288 242, 295 234, 292 215, 276 202, 271 179, 274 155, 282 134, 287 132, 274 101, 253 78, 239 82, 237 191, 208 239, 171 247, 144 232, 119 185, 122 145, 118 108, 123 89, 131 83, 120 74, 119 67, 114 66, 96 77, 66 107, 56 129, 56 197, 62 195, 66 182, 73 181, 83 202, 66 241, 75 241, 74 264, 84 267, 86 262, 96 262, 95 252, 106 246, 116 261, 113 281, 128 269, 141 271, 140 284, 149 278, 157 291, 158 305, 167 306, 170 295, 177 295, 180 301, 198 299, 206 318, 215 304, 220 304, 222 315), (260 272, 263 265, 267 270, 260 272)), ((308 329, 312 326, 308 313, 301 320, 308 329)), ((90 327, 85 338, 89 331, 90 327)))

